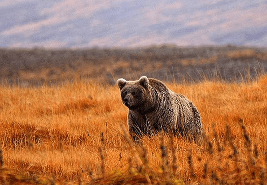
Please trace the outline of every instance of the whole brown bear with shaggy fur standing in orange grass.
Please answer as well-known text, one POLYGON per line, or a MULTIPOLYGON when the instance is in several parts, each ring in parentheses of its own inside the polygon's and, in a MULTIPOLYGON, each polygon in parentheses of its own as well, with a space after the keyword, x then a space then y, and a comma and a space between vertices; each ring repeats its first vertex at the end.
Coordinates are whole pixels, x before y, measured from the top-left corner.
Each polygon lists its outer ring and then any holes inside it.
POLYGON ((160 80, 142 76, 136 81, 117 80, 128 111, 128 129, 134 140, 163 130, 192 138, 202 137, 200 113, 184 95, 172 92, 160 80))

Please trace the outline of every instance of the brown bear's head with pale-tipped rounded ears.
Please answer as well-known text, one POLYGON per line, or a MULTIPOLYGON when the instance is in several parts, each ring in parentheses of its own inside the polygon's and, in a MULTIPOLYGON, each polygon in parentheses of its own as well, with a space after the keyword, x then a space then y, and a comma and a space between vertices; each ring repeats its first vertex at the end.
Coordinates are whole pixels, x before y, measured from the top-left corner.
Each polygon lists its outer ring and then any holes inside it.
POLYGON ((121 100, 131 110, 145 108, 151 99, 151 86, 146 76, 136 81, 127 81, 123 78, 117 80, 121 90, 121 100))

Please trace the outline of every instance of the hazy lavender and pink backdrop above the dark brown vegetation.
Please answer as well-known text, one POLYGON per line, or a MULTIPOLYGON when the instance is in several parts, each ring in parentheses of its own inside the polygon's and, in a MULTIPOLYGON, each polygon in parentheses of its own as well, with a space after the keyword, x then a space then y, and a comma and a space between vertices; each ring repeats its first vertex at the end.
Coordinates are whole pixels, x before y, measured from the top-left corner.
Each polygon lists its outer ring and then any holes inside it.
POLYGON ((0 0, 0 47, 267 46, 267 0, 0 0))

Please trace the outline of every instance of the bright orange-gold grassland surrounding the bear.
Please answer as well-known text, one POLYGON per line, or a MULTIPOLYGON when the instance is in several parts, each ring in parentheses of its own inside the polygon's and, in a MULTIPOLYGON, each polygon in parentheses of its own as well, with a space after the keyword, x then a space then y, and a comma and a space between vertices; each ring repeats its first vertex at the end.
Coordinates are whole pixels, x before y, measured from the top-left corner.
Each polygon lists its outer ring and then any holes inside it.
POLYGON ((1 184, 267 184, 267 76, 167 86, 197 106, 204 141, 129 139, 117 86, 0 86, 1 184))

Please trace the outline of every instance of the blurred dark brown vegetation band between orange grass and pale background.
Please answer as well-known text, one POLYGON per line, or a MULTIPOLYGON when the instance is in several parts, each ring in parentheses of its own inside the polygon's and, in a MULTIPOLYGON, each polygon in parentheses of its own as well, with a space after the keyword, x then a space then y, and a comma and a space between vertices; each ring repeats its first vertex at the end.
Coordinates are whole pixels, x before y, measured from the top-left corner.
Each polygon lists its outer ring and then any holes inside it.
POLYGON ((114 84, 142 75, 163 81, 196 82, 208 78, 242 81, 267 70, 266 48, 233 45, 181 48, 172 45, 132 49, 0 48, 0 79, 20 84, 53 84, 78 78, 114 84))

